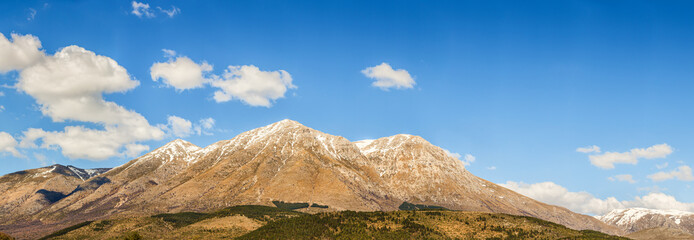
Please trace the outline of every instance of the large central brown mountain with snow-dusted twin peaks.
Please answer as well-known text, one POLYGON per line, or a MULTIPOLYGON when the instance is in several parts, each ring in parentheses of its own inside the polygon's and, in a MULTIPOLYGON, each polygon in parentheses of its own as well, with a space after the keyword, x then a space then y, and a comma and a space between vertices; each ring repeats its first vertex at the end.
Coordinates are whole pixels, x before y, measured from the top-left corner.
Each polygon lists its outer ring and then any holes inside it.
MULTIPOLYGON (((57 229, 113 216, 273 206, 273 201, 316 204, 329 211, 390 211, 406 201, 621 233, 593 217, 478 178, 460 160, 421 137, 401 134, 350 142, 291 120, 205 148, 175 140, 77 183, 66 188, 70 194, 35 208, 26 220, 33 221, 32 226, 57 229)), ((17 235, 32 226, 10 224, 0 226, 0 231, 17 235)))

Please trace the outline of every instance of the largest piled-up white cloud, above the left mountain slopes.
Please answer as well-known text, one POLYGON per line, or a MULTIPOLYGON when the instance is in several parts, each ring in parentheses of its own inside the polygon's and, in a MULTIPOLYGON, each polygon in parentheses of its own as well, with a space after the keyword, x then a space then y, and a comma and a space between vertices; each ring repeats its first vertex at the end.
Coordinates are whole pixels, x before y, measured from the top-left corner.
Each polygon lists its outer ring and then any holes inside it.
POLYGON ((19 71, 14 85, 18 91, 33 97, 41 113, 54 122, 87 122, 102 127, 66 126, 63 131, 28 129, 20 147, 59 147, 69 158, 103 160, 127 155, 128 144, 164 137, 161 129, 151 126, 139 113, 103 99, 103 94, 126 92, 139 85, 115 60, 78 46, 45 55, 39 49, 38 38, 26 35, 13 39, 11 45, 0 44, 3 56, 7 52, 10 56, 38 53, 38 57, 25 58, 38 60, 22 64, 0 61, 1 69, 19 71), (17 39, 28 42, 25 45, 30 47, 17 48, 17 39), (36 144, 39 140, 41 143, 36 144))

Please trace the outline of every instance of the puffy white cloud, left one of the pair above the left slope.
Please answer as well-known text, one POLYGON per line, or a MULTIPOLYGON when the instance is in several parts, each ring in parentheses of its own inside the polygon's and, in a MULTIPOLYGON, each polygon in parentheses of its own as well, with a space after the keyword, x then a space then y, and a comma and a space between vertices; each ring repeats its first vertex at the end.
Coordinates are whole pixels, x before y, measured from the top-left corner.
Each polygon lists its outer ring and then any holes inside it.
POLYGON ((212 66, 203 62, 197 64, 188 57, 178 57, 173 60, 176 52, 168 49, 163 50, 168 56, 172 56, 168 62, 154 63, 150 67, 152 80, 163 79, 166 85, 174 87, 176 90, 186 90, 199 88, 207 82, 205 74, 212 71, 212 66))

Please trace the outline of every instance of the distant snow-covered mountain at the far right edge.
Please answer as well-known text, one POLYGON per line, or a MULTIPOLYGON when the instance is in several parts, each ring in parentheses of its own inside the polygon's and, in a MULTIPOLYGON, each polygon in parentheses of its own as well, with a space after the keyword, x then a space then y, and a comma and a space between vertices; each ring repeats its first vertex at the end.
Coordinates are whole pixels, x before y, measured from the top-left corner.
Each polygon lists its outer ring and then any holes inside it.
POLYGON ((669 228, 694 234, 694 213, 691 212, 629 208, 615 209, 596 218, 621 228, 627 233, 653 228, 669 228))

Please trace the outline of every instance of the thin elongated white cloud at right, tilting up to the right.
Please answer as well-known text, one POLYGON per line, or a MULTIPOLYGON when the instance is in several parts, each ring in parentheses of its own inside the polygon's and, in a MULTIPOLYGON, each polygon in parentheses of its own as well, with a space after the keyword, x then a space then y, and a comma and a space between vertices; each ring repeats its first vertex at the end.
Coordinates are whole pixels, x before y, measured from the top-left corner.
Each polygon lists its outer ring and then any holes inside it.
POLYGON ((599 155, 591 155, 590 163, 603 169, 614 168, 616 163, 636 164, 640 158, 654 159, 664 158, 672 153, 672 147, 663 143, 648 148, 634 148, 629 152, 605 152, 599 155))

